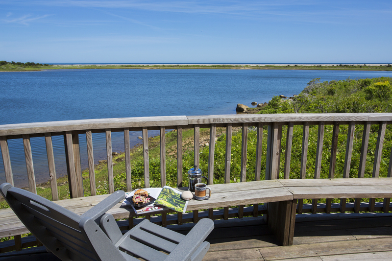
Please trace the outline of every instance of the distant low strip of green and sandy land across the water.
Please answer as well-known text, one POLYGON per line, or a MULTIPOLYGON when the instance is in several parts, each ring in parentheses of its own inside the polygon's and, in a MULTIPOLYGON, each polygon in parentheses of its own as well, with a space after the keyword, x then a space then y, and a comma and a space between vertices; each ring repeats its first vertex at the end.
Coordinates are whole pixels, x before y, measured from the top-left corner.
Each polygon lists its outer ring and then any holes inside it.
POLYGON ((356 70, 392 71, 392 65, 48 65, 0 61, 0 71, 39 71, 57 69, 237 69, 237 70, 356 70))

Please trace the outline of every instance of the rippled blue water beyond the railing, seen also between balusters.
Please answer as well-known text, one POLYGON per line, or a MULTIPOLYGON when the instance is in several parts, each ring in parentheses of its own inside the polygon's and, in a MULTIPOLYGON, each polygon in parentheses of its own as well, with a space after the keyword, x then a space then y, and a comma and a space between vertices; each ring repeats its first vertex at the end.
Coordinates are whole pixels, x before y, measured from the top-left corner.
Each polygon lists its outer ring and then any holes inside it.
MULTIPOLYGON (((309 81, 392 77, 391 71, 305 70, 53 70, 0 73, 0 125, 123 117, 236 114, 237 103, 268 102, 300 93, 309 81)), ((148 132, 149 136, 158 132, 148 132)), ((131 133, 131 146, 141 133, 131 133)), ((63 137, 53 136, 57 176, 66 174, 63 137)), ((82 167, 86 141, 79 135, 82 167)), ((49 179, 45 139, 31 138, 36 182, 49 179)), ((8 141, 16 186, 26 186, 21 139, 8 141)), ((93 134, 94 158, 106 158, 104 134, 93 134)), ((113 151, 123 134, 113 133, 113 151)), ((0 152, 1 154, 1 152, 0 152)), ((5 181, 0 157, 0 183, 5 181)))

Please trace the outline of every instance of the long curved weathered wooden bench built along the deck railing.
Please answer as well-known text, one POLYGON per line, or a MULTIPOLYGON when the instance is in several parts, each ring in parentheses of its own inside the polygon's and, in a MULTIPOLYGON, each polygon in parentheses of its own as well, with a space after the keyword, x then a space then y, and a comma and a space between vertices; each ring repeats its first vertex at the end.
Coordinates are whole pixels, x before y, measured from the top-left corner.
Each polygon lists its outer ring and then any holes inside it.
MULTIPOLYGON (((222 218, 227 219, 229 217, 228 207, 231 206, 240 206, 238 216, 241 218, 244 213, 244 205, 255 204, 256 210, 253 210, 253 215, 267 214, 265 216, 267 223, 283 246, 293 244, 295 214, 298 211, 296 203, 299 199, 392 197, 391 178, 266 180, 216 184, 209 187, 212 189, 210 199, 189 202, 187 210, 194 212, 193 221, 195 223, 205 217, 216 219, 214 208, 223 207, 222 218), (267 204, 259 206, 259 203, 267 204), (208 210, 208 215, 198 216, 199 210, 208 210)), ((178 190, 187 190, 187 188, 178 188, 178 190)), ((56 203, 76 214, 83 214, 107 196, 74 198, 56 203)), ((345 211, 344 208, 345 204, 342 205, 342 212, 345 211)), ((390 208, 390 204, 388 204, 388 208, 390 208)), ((358 211, 362 211, 361 207, 358 211)), ((388 212, 389 209, 384 211, 388 212)), ((315 213, 317 212, 316 209, 315 213)), ((116 219, 129 218, 129 227, 133 225, 131 222, 133 223, 135 214, 130 208, 122 208, 121 203, 108 213, 113 214, 116 219)), ((162 224, 164 217, 166 219, 166 214, 162 215, 162 224)), ((12 210, 3 209, 0 211, 0 237, 24 233, 28 233, 28 230, 12 210)))

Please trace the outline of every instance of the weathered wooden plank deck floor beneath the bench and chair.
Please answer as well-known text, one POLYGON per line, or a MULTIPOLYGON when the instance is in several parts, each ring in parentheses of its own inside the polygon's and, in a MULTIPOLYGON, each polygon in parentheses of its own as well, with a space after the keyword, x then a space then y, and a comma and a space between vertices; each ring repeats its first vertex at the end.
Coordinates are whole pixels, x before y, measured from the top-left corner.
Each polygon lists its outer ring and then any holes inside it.
MULTIPOLYGON (((193 226, 189 223, 168 228, 186 234, 193 226)), ((297 214, 294 244, 285 247, 278 246, 262 216, 233 218, 215 221, 215 229, 207 237, 211 247, 203 260, 387 261, 392 260, 391 239, 392 213, 297 214)), ((0 260, 57 260, 43 252, 4 254, 0 260)))

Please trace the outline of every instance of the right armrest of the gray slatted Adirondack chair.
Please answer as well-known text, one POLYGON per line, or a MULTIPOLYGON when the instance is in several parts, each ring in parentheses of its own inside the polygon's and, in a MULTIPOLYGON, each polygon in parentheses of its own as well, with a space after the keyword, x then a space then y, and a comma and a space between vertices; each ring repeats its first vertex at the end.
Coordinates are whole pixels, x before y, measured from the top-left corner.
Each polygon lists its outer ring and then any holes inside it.
POLYGON ((174 248, 165 261, 191 260, 195 251, 213 229, 214 221, 209 218, 201 219, 186 235, 186 237, 174 248))

